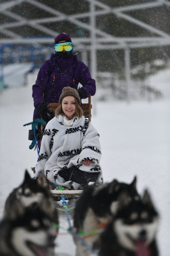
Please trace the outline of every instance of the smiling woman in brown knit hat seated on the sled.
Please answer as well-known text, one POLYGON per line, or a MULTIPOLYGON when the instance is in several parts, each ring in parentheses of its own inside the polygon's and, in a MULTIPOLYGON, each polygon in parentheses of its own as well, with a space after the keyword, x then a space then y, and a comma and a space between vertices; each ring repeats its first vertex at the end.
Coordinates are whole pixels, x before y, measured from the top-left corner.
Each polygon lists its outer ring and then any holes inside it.
POLYGON ((46 125, 35 176, 66 188, 102 183, 99 134, 83 116, 77 90, 64 87, 55 117, 46 125))

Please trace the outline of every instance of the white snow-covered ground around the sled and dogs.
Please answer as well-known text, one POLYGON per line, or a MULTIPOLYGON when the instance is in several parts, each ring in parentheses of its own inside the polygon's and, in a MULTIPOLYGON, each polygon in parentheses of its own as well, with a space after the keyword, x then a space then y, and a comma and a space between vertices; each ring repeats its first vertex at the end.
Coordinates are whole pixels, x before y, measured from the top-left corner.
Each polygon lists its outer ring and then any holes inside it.
MULTIPOLYGON (((30 168, 36 164, 37 152, 29 150, 31 126, 23 127, 32 121, 34 82, 30 79, 27 87, 0 94, 0 217, 7 195, 22 182, 24 170, 27 168, 32 174, 30 168)), ((104 181, 117 178, 129 183, 137 175, 139 192, 149 189, 160 214, 160 256, 169 256, 169 100, 97 102, 95 109, 97 115, 92 116, 92 123, 100 133, 104 181)), ((60 225, 68 227, 65 216, 60 218, 60 225)), ((56 242, 58 255, 74 255, 75 246, 69 234, 59 235, 56 242)))

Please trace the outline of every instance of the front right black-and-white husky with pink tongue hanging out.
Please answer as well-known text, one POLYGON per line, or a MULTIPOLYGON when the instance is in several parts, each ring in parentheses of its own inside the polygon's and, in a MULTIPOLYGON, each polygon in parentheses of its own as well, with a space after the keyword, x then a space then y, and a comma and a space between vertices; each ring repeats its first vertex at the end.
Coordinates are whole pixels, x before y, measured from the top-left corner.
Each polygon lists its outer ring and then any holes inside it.
POLYGON ((158 256, 158 213, 147 190, 141 200, 123 195, 113 220, 100 236, 101 256, 158 256))

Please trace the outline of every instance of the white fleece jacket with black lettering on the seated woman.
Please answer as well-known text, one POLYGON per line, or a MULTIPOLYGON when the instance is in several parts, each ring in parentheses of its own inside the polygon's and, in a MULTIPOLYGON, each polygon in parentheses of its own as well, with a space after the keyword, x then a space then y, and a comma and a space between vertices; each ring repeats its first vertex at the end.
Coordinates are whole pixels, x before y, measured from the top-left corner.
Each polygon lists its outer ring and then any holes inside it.
POLYGON ((74 118, 72 126, 63 124, 63 117, 52 118, 46 125, 35 175, 45 172, 46 178, 58 186, 66 188, 80 188, 80 184, 65 181, 58 171, 76 166, 85 172, 100 172, 98 182, 102 183, 102 170, 99 164, 101 159, 101 148, 99 134, 92 124, 85 119, 74 118), (83 160, 92 160, 88 166, 83 165, 83 160))

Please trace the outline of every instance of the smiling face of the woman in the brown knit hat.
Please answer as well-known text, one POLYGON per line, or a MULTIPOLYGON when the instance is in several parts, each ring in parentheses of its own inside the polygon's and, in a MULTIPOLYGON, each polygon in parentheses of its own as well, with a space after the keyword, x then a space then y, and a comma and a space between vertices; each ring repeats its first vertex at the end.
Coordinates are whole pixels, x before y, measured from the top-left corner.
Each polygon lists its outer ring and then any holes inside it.
POLYGON ((67 118, 70 120, 75 114, 75 99, 73 96, 66 96, 62 100, 62 110, 67 118))

